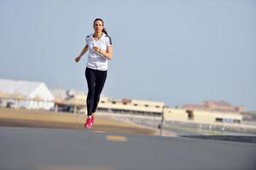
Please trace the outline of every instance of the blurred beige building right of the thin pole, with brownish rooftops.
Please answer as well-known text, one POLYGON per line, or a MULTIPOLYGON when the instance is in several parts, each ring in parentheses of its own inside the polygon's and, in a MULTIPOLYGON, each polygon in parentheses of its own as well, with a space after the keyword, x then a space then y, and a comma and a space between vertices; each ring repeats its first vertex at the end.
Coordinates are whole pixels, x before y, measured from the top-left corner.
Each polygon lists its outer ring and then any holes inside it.
POLYGON ((201 105, 183 105, 182 109, 166 108, 166 121, 197 122, 197 123, 236 123, 242 122, 241 112, 244 106, 233 106, 224 101, 203 101, 201 105))

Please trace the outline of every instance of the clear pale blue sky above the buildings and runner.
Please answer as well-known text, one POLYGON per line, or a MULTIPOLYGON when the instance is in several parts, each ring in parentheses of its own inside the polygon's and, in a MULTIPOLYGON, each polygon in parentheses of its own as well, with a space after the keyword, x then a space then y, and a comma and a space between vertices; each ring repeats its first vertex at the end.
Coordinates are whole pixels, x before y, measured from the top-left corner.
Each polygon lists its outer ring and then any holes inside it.
POLYGON ((74 59, 102 18, 113 41, 103 95, 255 111, 255 16, 254 0, 0 0, 0 78, 87 93, 87 54, 74 59))

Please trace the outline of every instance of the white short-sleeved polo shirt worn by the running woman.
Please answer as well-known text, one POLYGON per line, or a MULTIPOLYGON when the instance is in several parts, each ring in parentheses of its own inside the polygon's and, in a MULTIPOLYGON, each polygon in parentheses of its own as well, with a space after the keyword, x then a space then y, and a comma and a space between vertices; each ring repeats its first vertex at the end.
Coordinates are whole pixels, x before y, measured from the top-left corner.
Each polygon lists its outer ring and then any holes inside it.
POLYGON ((111 37, 102 33, 102 37, 99 40, 93 38, 93 34, 90 34, 85 38, 86 44, 88 45, 89 54, 87 60, 87 67, 99 71, 108 70, 108 59, 102 54, 99 54, 93 50, 93 47, 101 48, 101 51, 106 52, 107 47, 112 46, 111 37))

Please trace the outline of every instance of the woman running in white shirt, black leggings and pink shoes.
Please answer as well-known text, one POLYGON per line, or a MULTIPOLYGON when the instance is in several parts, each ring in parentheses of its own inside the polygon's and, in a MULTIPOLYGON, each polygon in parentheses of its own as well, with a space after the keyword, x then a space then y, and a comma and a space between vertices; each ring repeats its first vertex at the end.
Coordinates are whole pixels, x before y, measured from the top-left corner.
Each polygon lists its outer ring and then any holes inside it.
POLYGON ((75 61, 79 62, 81 57, 89 50, 85 77, 88 85, 86 99, 87 120, 84 127, 90 128, 94 124, 94 114, 100 100, 102 88, 107 77, 108 60, 112 59, 112 41, 104 28, 102 19, 93 22, 94 33, 85 38, 86 45, 75 61))

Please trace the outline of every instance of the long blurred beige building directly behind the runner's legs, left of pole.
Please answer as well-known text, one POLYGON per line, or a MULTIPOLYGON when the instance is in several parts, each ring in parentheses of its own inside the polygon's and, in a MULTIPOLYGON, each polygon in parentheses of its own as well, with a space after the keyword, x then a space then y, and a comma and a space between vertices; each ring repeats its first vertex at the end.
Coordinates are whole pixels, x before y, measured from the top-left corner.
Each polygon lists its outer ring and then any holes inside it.
MULTIPOLYGON (((86 114, 86 94, 84 92, 73 92, 68 95, 64 90, 52 90, 55 95, 55 111, 68 111, 86 114)), ((163 112, 163 102, 148 101, 140 99, 108 99, 101 96, 98 111, 132 113, 137 115, 160 116, 163 112)))

